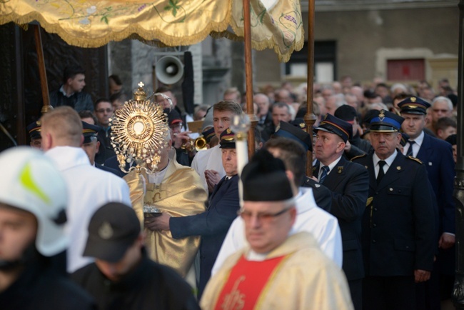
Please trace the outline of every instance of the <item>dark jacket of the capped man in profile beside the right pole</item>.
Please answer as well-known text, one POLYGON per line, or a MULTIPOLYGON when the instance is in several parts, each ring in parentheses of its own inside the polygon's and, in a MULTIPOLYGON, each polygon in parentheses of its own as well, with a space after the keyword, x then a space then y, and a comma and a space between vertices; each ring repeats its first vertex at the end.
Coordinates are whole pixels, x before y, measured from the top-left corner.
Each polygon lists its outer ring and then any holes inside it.
MULTIPOLYGON (((314 167, 318 176, 319 165, 314 167)), ((368 199, 369 179, 365 167, 347 161, 343 156, 330 171, 323 185, 331 190, 331 214, 340 225, 343 244, 343 271, 348 281, 364 276, 361 251, 361 219, 368 199)))

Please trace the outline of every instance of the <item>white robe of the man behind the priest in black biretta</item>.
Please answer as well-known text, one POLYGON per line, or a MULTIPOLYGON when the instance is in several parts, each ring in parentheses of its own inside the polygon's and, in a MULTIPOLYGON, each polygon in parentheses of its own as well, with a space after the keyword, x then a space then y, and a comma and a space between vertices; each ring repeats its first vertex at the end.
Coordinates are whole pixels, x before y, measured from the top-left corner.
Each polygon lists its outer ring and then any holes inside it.
MULTIPOLYGON (((311 188, 300 187, 300 193, 295 199, 297 215, 290 234, 296 234, 300 231, 310 232, 313 234, 314 239, 318 241, 323 253, 341 268, 343 249, 340 227, 336 217, 316 205, 313 189, 311 188)), ((211 275, 216 274, 221 269, 228 256, 243 248, 243 246, 248 246, 245 237, 245 223, 238 216, 227 232, 211 275)))

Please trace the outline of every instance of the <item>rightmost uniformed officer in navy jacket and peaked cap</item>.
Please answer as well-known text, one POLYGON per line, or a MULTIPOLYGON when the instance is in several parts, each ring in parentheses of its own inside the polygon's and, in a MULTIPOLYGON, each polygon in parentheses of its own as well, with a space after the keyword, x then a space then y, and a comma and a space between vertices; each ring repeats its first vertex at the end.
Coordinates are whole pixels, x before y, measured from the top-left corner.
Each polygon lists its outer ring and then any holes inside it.
POLYGON ((418 284, 418 309, 440 309, 443 299, 450 298, 454 283, 455 265, 455 203, 453 149, 447 142, 430 136, 425 131, 425 115, 430 104, 416 96, 408 96, 400 103, 401 128, 409 135, 403 154, 413 156, 425 164, 428 181, 435 193, 439 211, 439 254, 430 281, 418 284), (443 277, 442 279, 439 279, 443 277), (440 281, 441 280, 441 281, 440 281))

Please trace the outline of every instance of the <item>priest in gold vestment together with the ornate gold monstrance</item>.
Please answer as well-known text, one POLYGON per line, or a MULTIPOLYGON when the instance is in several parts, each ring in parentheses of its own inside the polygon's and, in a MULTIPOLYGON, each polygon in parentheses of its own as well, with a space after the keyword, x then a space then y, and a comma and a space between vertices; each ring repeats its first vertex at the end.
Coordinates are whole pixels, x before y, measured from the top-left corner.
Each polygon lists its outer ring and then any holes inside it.
POLYGON ((111 119, 111 139, 121 170, 128 162, 135 164, 124 179, 131 191, 133 209, 145 229, 148 255, 185 277, 188 271, 193 272, 200 238, 173 239, 170 231, 154 230, 151 220, 161 213, 171 216, 201 213, 205 211, 208 194, 198 174, 170 156, 172 141, 167 116, 163 107, 150 98, 146 98, 140 83, 133 100, 111 119))

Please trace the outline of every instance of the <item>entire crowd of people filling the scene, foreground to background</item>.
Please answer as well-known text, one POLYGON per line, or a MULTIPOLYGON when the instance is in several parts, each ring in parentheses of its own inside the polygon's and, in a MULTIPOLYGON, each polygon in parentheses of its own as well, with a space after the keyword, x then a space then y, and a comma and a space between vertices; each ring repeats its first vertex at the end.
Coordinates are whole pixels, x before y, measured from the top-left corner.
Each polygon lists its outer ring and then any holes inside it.
POLYGON ((31 147, 0 154, 1 309, 435 310, 450 299, 457 96, 446 79, 436 93, 425 81, 315 84, 312 134, 306 85, 266 86, 242 171, 237 88, 191 116, 157 89, 169 130, 148 150, 159 162, 139 171, 112 147, 111 117, 131 96, 118 76, 109 85, 92 103, 84 71, 67 68, 55 109, 27 128, 31 147))

